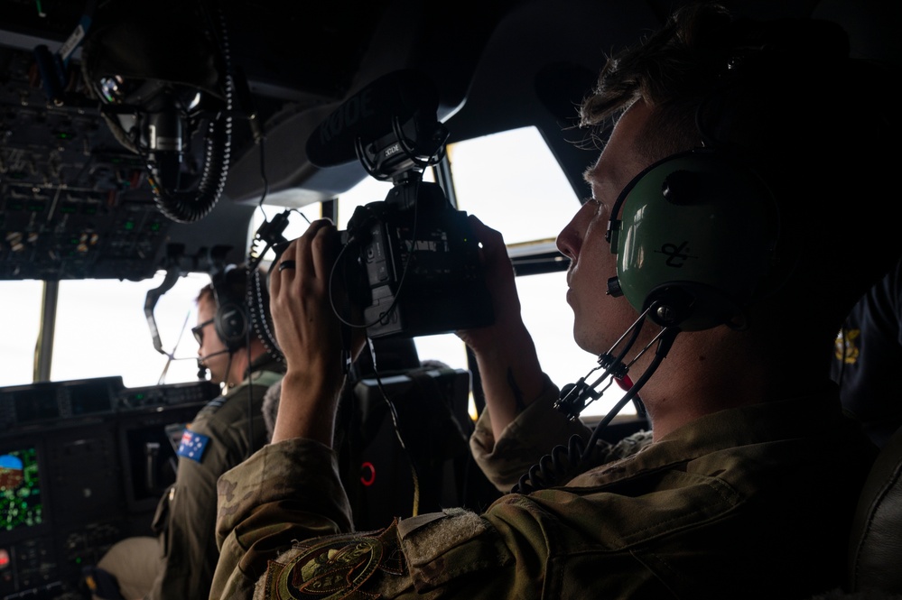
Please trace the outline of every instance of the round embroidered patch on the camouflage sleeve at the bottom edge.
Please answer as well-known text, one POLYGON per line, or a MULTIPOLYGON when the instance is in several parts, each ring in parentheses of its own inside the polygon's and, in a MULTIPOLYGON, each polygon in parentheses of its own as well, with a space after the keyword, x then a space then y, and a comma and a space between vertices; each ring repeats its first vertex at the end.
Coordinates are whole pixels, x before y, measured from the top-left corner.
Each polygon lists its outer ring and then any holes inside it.
POLYGON ((269 562, 266 597, 278 600, 374 598, 360 591, 377 571, 400 575, 395 526, 378 535, 331 536, 302 547, 285 563, 269 562))

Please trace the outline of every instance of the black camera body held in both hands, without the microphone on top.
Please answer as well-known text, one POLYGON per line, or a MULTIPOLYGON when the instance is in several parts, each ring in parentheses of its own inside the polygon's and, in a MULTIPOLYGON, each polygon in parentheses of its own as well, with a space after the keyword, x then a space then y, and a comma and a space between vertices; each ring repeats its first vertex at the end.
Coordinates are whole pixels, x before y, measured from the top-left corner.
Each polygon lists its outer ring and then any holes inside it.
POLYGON ((399 181, 386 200, 358 207, 340 232, 341 266, 369 337, 417 337, 494 321, 479 243, 442 189, 399 181))

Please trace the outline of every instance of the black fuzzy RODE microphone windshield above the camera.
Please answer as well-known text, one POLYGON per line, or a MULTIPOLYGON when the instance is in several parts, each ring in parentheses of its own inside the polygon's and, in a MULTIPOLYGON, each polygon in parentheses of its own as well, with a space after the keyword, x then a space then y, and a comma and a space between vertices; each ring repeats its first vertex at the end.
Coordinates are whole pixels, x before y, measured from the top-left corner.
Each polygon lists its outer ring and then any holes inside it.
POLYGON ((363 145, 394 132, 395 119, 411 119, 417 131, 432 131, 437 122, 439 95, 422 71, 389 73, 345 100, 307 139, 307 158, 317 167, 334 167, 357 160, 356 140, 363 145))

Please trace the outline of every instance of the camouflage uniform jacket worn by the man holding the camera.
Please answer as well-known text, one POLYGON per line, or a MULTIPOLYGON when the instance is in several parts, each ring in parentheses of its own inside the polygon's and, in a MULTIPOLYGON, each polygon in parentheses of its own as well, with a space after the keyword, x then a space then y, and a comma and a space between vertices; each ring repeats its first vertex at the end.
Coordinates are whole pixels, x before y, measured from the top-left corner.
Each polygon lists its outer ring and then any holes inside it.
POLYGON ((839 586, 876 448, 835 385, 634 448, 481 515, 354 533, 335 453, 309 439, 267 446, 219 478, 210 598, 803 598, 839 586))

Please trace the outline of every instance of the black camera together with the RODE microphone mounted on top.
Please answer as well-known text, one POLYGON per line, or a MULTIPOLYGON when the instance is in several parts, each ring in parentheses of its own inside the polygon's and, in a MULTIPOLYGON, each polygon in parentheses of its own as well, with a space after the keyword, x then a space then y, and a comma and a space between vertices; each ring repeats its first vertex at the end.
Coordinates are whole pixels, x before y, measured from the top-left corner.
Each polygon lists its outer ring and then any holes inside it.
MULTIPOLYGON (((373 338, 451 333, 494 321, 467 214, 451 206, 441 186, 423 181, 423 170, 442 160, 448 138, 425 86, 418 75, 395 73, 321 125, 330 139, 352 139, 367 172, 394 184, 384 200, 358 207, 339 232, 337 268, 362 314, 352 325, 373 338), (385 107, 381 118, 374 106, 385 107)), ((308 143, 312 162, 316 152, 332 151, 324 139, 308 143)))

